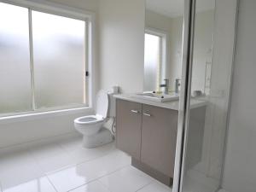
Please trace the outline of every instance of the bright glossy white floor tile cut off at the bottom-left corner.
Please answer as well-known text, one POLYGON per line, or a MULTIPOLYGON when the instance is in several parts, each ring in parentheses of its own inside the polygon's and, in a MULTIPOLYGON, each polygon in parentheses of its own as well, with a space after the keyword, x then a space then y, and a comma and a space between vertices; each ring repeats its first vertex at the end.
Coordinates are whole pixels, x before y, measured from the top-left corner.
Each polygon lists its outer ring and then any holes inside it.
POLYGON ((3 189, 3 192, 56 192, 46 177, 39 177, 14 187, 3 189))

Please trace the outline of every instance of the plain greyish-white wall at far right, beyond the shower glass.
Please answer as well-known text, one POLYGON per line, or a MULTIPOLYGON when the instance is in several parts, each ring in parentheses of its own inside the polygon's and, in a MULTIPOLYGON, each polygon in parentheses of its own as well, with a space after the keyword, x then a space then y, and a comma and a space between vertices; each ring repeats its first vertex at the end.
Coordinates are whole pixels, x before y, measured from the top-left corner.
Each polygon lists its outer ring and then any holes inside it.
POLYGON ((256 1, 241 0, 223 187, 256 191, 256 1))

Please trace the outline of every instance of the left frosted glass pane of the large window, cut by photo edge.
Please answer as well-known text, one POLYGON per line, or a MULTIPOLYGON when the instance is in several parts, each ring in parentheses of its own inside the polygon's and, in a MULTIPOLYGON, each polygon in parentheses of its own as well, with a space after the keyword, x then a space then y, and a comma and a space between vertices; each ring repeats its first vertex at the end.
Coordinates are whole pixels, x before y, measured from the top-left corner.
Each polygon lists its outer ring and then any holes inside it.
POLYGON ((28 9, 0 3, 0 115, 32 109, 28 9))

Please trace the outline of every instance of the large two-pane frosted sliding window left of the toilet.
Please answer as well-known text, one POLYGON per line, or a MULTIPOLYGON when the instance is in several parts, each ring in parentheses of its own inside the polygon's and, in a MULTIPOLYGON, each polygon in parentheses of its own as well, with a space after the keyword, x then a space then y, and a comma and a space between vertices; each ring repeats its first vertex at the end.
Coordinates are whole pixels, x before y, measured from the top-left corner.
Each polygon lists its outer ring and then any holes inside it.
POLYGON ((0 116, 84 107, 88 21, 0 3, 0 116))

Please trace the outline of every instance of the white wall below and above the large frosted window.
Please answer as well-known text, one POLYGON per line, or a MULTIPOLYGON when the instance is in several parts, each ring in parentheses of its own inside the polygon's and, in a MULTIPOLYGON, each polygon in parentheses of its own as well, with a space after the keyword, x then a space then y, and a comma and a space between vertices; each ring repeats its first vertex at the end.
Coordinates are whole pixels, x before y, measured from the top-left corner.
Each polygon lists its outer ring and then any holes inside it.
MULTIPOLYGON (((33 1, 46 2, 45 0, 33 1)), ((95 13, 97 13, 98 8, 97 0, 50 0, 48 2, 61 3, 69 7, 90 10, 95 13)), ((97 61, 95 65, 97 65, 97 61)), ((29 119, 19 118, 0 121, 0 148, 74 131, 73 119, 90 113, 92 113, 91 110, 84 110, 77 113, 48 114, 29 119)))

